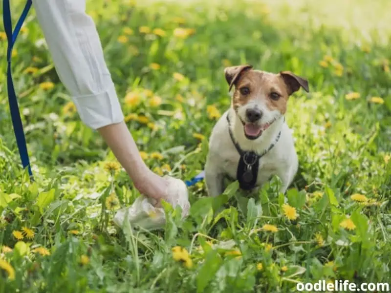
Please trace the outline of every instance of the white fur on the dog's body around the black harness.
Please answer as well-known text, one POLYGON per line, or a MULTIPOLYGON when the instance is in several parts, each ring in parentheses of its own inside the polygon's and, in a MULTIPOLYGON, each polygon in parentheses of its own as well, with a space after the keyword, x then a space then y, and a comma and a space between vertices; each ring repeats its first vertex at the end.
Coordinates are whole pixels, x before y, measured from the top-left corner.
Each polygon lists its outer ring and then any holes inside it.
MULTIPOLYGON (((258 101, 258 106, 261 106, 258 101)), ((238 110, 242 117, 245 106, 238 110), (242 108, 242 109, 241 109, 242 108)), ((253 150, 261 154, 266 150, 281 130, 281 136, 277 144, 260 159, 257 187, 260 187, 272 175, 277 175, 282 180, 281 192, 285 193, 298 169, 298 158, 294 147, 291 130, 284 122, 283 116, 278 111, 262 109, 262 123, 272 119, 277 120, 263 131, 256 140, 249 140, 244 135, 243 125, 231 107, 217 121, 209 139, 209 153, 205 165, 205 181, 210 196, 218 196, 224 191, 223 179, 226 175, 236 179, 236 172, 240 155, 235 148, 228 130, 227 115, 235 140, 243 151, 253 150)))

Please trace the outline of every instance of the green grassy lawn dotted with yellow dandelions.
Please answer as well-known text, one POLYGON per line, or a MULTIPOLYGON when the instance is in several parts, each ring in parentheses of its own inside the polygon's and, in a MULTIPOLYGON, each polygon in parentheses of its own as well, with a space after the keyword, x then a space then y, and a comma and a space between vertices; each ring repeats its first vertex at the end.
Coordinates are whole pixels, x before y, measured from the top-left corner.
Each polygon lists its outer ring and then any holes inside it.
MULTIPOLYGON (((24 1, 13 2, 16 21, 24 1)), ((20 166, 0 36, 0 247, 12 249, 0 254, 0 265, 6 261, 15 270, 12 279, 0 269, 0 292, 274 293, 320 279, 390 282, 391 30, 382 21, 390 1, 139 2, 94 0, 88 12, 140 151, 163 155, 149 156, 147 164, 183 180, 203 169, 216 122, 207 105, 220 113, 230 105, 224 66, 291 70, 310 84, 310 93, 289 99, 286 115, 300 163, 287 197, 299 217, 284 216, 278 178, 250 200, 236 183, 208 198, 201 182, 189 189, 192 209, 185 220, 168 209, 164 231, 117 229, 106 198, 114 192, 123 207, 139 194, 124 171, 104 168, 114 157, 68 104, 32 10, 16 44, 13 76, 35 183, 20 166), (165 36, 140 33, 140 26, 161 28, 165 36), (118 42, 127 27, 133 34, 118 42), (195 33, 180 39, 177 27, 195 33), (330 61, 322 67, 325 56, 330 61), (151 63, 160 68, 152 70, 151 63), (27 73, 28 67, 38 71, 27 73), (176 72, 185 78, 175 80, 176 72), (43 82, 54 87, 45 90, 43 82), (162 104, 152 107, 145 89, 162 104), (347 99, 351 92, 359 97, 347 99), (368 203, 354 201, 355 193, 368 203), (353 230, 341 226, 347 218, 353 230), (18 241, 13 231, 22 227, 34 238, 18 241), (174 246, 189 251, 179 256, 190 269, 175 261, 174 246)))

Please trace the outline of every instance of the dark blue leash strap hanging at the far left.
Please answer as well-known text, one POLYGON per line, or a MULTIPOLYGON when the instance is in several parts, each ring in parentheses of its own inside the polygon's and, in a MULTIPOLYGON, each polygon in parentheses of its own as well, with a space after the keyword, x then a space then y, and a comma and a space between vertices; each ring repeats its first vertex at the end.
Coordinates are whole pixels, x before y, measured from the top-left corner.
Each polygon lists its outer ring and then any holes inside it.
POLYGON ((11 73, 11 57, 12 48, 14 47, 16 38, 22 28, 23 21, 26 19, 28 11, 30 10, 32 0, 27 0, 24 6, 23 12, 19 21, 15 26, 15 30, 12 32, 12 20, 11 20, 11 9, 9 0, 3 0, 3 22, 4 30, 7 35, 8 48, 7 48, 7 88, 8 88, 8 102, 11 111, 12 126, 14 128, 15 138, 19 149, 19 154, 22 160, 23 169, 28 168, 31 180, 33 180, 33 173, 31 172, 30 160, 28 157, 26 139, 24 137, 23 125, 21 120, 21 114, 19 112, 18 100, 16 98, 15 87, 12 81, 11 73))

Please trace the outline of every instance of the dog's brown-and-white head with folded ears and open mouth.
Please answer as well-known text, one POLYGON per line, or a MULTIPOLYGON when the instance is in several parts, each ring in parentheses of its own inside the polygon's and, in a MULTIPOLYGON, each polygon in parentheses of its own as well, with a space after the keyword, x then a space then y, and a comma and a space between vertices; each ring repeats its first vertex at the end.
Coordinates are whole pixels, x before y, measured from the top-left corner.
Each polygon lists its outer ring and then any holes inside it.
POLYGON ((274 121, 286 112, 289 96, 308 82, 290 71, 278 74, 254 70, 251 65, 231 66, 224 69, 229 90, 235 86, 232 107, 250 140, 261 136, 274 121))

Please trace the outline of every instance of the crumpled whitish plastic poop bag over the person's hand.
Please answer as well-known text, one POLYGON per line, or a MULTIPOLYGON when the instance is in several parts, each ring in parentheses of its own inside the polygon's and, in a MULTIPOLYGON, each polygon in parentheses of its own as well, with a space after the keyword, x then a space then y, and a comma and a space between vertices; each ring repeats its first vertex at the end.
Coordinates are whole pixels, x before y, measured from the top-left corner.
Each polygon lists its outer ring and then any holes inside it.
MULTIPOLYGON (((166 202, 175 209, 177 205, 182 208, 182 217, 189 214, 190 203, 186 184, 171 176, 164 176, 168 180, 168 198, 166 202)), ((114 216, 114 223, 119 227, 124 227, 124 221, 130 222, 130 227, 138 226, 145 230, 161 229, 166 224, 164 209, 156 207, 155 199, 147 198, 143 195, 136 198, 134 203, 128 207, 117 211, 114 216)))

